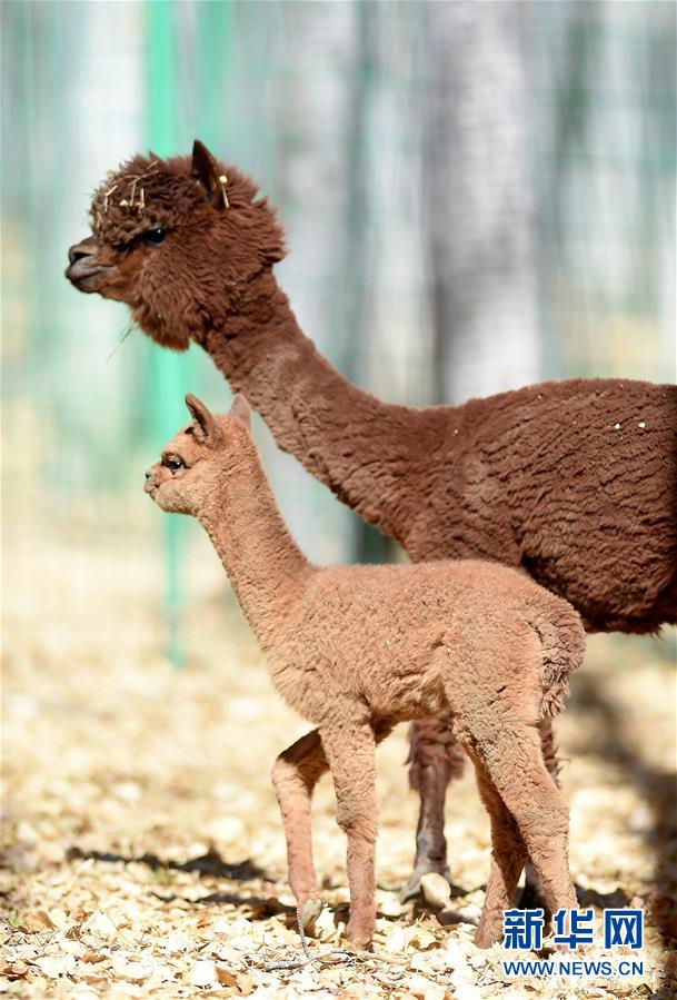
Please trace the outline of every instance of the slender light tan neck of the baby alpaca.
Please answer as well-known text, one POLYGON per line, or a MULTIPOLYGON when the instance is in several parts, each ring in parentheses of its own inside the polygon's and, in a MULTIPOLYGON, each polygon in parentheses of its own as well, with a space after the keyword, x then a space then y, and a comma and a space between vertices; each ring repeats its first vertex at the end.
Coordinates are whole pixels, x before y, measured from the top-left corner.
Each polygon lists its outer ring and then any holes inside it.
POLYGON ((278 511, 253 444, 223 469, 198 518, 263 650, 270 650, 312 566, 278 511))

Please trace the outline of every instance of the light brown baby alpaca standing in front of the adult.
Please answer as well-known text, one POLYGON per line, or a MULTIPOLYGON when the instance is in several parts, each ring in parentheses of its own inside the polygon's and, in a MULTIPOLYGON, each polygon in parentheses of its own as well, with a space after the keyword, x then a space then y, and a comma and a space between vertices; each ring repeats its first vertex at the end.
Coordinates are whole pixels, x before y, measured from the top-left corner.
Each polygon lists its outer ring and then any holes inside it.
POLYGON ((540 723, 583 661, 578 614, 526 574, 477 561, 312 566, 289 535, 236 397, 192 424, 146 473, 163 511, 208 532, 280 695, 317 729, 278 758, 273 783, 289 881, 303 920, 319 910, 310 799, 329 769, 348 838, 346 937, 374 934, 375 747, 398 723, 447 711, 491 821, 492 861, 476 942, 501 935, 527 854, 552 911, 576 907, 568 810, 541 753, 540 723))

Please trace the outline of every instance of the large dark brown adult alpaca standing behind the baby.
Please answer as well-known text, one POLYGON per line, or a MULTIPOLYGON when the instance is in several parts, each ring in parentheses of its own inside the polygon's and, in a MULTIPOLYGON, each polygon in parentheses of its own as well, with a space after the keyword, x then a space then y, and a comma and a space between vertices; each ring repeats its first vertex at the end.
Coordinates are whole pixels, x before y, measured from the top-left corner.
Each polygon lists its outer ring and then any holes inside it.
MULTIPOLYGON (((93 235, 67 275, 128 303, 157 343, 200 344, 278 445, 414 562, 521 567, 589 631, 677 622, 677 388, 570 379, 458 407, 380 403, 300 330, 271 271, 282 230, 256 191, 199 142, 192 159, 137 156, 97 191, 93 235)), ((446 870, 445 792, 461 755, 444 719, 412 725, 409 760, 416 888, 446 870)))

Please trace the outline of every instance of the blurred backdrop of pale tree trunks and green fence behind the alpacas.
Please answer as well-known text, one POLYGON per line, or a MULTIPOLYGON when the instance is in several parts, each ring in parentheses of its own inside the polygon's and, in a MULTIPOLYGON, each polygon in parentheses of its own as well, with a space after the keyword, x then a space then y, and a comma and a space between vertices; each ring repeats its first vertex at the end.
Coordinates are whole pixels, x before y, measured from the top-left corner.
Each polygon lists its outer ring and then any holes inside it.
MULTIPOLYGON (((251 174, 301 326, 382 398, 674 379, 673 3, 6 0, 2 19, 4 531, 27 580, 36 537, 84 552, 106 533, 132 560, 152 538, 173 659, 207 545, 151 508, 142 472, 183 393, 225 408, 227 387, 62 275, 135 150, 200 137, 251 174)), ((311 557, 387 555, 257 435, 311 557)))

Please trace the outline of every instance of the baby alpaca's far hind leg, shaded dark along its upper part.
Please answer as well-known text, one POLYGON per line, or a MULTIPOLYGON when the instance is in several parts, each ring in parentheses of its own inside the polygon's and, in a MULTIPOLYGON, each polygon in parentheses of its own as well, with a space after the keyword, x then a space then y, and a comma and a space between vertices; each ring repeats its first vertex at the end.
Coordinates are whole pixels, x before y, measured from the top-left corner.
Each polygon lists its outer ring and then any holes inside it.
POLYGON ((512 905, 527 849, 489 772, 477 758, 474 758, 474 764, 479 794, 491 822, 491 869, 475 943, 478 948, 489 948, 502 935, 502 913, 512 905))

